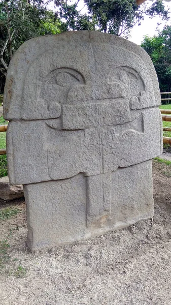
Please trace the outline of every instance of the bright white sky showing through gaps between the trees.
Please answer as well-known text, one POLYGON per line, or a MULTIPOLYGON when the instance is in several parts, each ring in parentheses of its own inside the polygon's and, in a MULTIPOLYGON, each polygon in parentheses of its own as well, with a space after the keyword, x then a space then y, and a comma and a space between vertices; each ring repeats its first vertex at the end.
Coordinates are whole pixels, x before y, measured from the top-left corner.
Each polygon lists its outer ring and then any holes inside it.
MULTIPOLYGON (((146 3, 151 6, 153 1, 147 1, 146 3)), ((75 1, 73 0, 73 3, 75 3, 75 1)), ((163 4, 165 6, 165 8, 169 9, 171 12, 171 0, 165 0, 163 1, 163 4)), ((143 5, 141 6, 141 8, 143 7, 143 5)), ((53 9, 53 5, 50 5, 49 8, 53 9)), ((78 5, 78 10, 82 9, 82 13, 87 13, 86 9, 84 8, 84 1, 80 0, 79 5, 78 5)), ((170 16, 170 20, 165 22, 165 21, 161 21, 161 19, 159 17, 153 17, 152 19, 149 16, 145 16, 144 20, 141 22, 141 25, 135 25, 130 33, 130 37, 128 38, 128 40, 140 45, 143 41, 144 36, 149 35, 150 37, 153 37, 155 34, 157 34, 156 32, 156 27, 157 27, 157 23, 161 22, 161 25, 159 26, 159 29, 162 30, 164 25, 170 25, 171 24, 171 13, 169 14, 170 16)))

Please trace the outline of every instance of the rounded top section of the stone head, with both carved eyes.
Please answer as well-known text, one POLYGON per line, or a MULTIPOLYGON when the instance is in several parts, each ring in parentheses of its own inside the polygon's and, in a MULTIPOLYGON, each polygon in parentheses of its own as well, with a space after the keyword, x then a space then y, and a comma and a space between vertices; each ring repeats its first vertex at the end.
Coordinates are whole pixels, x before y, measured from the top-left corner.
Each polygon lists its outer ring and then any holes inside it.
POLYGON ((140 102, 133 109, 160 105, 154 66, 143 48, 113 35, 88 31, 36 37, 25 42, 11 60, 4 117, 55 118, 66 97, 67 104, 87 104, 124 96, 129 104, 134 93, 140 102), (119 94, 115 90, 118 82, 119 94))

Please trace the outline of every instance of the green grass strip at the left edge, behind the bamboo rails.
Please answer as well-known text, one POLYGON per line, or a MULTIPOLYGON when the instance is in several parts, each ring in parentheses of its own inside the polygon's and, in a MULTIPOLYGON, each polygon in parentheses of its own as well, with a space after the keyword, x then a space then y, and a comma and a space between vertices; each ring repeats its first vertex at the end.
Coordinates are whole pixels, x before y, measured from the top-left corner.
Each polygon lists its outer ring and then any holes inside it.
MULTIPOLYGON (((4 119, 3 116, 0 116, 0 125, 7 125, 8 121, 4 119)), ((0 133, 0 149, 6 148, 6 132, 0 133)), ((0 177, 4 177, 8 175, 7 170, 7 156, 0 155, 0 177)))

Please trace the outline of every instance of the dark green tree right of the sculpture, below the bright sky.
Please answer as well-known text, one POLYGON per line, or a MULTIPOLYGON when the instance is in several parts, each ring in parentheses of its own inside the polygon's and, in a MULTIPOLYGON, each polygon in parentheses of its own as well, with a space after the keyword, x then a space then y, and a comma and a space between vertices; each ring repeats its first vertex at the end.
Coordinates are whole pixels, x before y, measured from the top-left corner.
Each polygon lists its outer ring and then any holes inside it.
POLYGON ((161 92, 171 92, 171 26, 152 38, 146 36, 141 45, 150 55, 161 92))

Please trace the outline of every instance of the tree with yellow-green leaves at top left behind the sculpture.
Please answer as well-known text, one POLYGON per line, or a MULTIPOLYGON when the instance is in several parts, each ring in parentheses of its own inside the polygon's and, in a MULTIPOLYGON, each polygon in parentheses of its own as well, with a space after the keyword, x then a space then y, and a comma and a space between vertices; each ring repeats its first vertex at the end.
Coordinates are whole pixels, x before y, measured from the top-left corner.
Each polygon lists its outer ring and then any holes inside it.
POLYGON ((26 40, 60 32, 60 21, 42 0, 4 0, 0 3, 0 92, 3 92, 8 65, 26 40))

